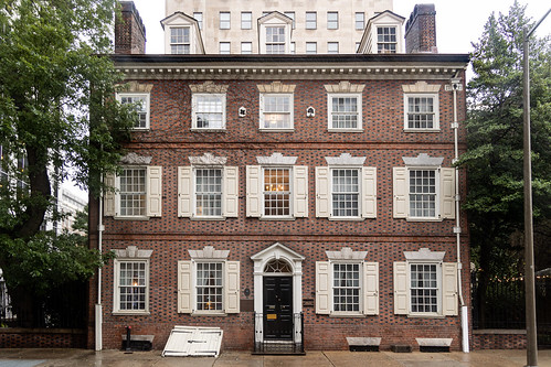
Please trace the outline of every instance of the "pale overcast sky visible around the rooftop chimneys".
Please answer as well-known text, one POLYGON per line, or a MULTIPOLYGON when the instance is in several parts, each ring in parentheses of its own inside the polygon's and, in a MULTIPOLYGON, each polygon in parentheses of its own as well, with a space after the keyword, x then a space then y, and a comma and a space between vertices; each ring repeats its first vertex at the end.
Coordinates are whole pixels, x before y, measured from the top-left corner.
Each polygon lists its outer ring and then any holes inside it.
MULTIPOLYGON (((146 25, 146 52, 162 54, 165 48, 160 20, 166 15, 165 0, 134 2, 146 25)), ((436 42, 439 53, 468 53, 471 51, 470 43, 478 40, 490 13, 507 13, 513 0, 394 0, 394 12, 407 19, 416 3, 434 3, 436 7, 436 42)), ((540 20, 550 8, 548 0, 520 3, 528 3, 527 13, 533 20, 540 20)), ((551 15, 541 23, 536 34, 551 34, 551 15)))

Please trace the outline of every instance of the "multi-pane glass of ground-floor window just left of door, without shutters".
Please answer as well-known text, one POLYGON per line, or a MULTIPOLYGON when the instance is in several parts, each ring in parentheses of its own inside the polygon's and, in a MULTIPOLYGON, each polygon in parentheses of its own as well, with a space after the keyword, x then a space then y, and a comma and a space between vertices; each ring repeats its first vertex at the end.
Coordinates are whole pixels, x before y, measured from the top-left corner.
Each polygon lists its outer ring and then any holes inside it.
POLYGON ((222 311, 222 262, 197 263, 197 310, 222 311))

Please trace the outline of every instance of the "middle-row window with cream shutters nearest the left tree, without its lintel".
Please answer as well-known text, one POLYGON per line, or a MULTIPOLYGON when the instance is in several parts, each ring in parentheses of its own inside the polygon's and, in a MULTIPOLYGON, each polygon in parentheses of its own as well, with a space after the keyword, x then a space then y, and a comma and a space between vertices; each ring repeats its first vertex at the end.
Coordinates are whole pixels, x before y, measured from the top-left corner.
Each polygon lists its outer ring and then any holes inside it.
POLYGON ((161 166, 125 166, 120 175, 105 175, 105 184, 116 192, 104 194, 104 215, 120 218, 161 216, 161 166))

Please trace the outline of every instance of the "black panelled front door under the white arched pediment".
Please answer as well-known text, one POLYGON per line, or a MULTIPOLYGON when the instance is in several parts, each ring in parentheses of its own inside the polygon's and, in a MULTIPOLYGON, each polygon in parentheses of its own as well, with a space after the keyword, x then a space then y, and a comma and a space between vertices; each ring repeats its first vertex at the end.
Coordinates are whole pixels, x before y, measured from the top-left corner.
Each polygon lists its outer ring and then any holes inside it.
POLYGON ((264 339, 293 339, 293 277, 264 277, 264 339))

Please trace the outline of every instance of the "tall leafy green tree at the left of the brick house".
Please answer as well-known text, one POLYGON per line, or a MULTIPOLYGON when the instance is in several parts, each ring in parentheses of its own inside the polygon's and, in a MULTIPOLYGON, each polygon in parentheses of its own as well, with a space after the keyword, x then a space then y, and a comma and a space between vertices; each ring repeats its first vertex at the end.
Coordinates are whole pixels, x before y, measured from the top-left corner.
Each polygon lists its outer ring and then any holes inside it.
POLYGON ((116 170, 135 115, 117 104, 112 51, 115 0, 0 0, 0 268, 13 306, 87 279, 104 258, 56 220, 53 184, 93 193, 116 170))

